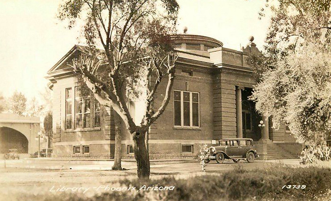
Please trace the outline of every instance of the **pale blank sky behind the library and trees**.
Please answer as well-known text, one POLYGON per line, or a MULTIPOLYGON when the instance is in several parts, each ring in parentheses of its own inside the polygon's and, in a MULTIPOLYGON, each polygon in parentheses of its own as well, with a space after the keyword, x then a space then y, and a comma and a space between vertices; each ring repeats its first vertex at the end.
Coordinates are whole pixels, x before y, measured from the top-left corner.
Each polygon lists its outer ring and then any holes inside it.
MULTIPOLYGON (((0 93, 15 90, 40 100, 46 72, 78 43, 80 28, 56 18, 61 0, 0 0, 0 93)), ((262 49, 270 13, 258 19, 263 0, 177 0, 178 30, 213 37, 240 50, 253 35, 262 49)))

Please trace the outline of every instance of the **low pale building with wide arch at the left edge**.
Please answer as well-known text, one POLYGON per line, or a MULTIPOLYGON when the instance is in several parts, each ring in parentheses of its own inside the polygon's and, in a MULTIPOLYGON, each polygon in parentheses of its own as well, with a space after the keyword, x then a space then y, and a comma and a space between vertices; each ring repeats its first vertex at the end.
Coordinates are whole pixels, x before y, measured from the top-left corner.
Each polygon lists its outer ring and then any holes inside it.
POLYGON ((39 129, 39 117, 0 114, 0 153, 7 153, 8 149, 25 154, 38 151, 39 129))

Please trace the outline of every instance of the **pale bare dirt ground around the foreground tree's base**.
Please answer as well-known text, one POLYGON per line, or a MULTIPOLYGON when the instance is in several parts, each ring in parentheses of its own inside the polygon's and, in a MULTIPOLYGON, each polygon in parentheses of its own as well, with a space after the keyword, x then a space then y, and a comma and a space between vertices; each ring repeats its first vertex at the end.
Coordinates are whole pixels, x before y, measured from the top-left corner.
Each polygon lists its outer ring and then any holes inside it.
MULTIPOLYGON (((56 163, 56 162, 54 162, 56 163)), ((175 178, 189 178, 197 175, 206 174, 222 174, 236 166, 242 166, 245 169, 263 168, 277 161, 256 161, 247 163, 241 161, 236 164, 232 161, 223 164, 217 164, 212 161, 207 166, 206 173, 201 171, 198 162, 191 163, 169 163, 158 162, 151 165, 151 179, 157 179, 166 176, 174 176, 175 178)), ((281 163, 296 165, 297 160, 282 161, 281 163)), ((45 169, 26 169, 26 168, 0 168, 0 200, 11 200, 10 197, 18 196, 21 193, 59 193, 59 189, 71 192, 71 188, 79 189, 84 196, 92 196, 102 193, 103 189, 100 186, 118 187, 116 181, 121 179, 135 179, 136 168, 134 163, 126 163, 123 168, 129 170, 113 171, 113 170, 45 170, 45 169), (98 188, 99 187, 99 188, 98 188), (69 189, 68 189, 69 188, 69 189), (57 191, 58 190, 58 191, 57 191)), ((169 184, 171 185, 171 184, 169 184)))

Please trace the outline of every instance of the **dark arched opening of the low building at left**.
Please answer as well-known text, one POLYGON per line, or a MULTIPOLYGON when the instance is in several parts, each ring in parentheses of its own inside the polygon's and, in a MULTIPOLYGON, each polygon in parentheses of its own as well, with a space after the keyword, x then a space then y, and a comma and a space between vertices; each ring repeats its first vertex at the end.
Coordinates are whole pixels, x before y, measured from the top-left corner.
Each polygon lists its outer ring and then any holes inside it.
POLYGON ((28 153, 28 140, 21 132, 0 127, 0 153, 7 153, 8 149, 17 149, 18 153, 28 153))

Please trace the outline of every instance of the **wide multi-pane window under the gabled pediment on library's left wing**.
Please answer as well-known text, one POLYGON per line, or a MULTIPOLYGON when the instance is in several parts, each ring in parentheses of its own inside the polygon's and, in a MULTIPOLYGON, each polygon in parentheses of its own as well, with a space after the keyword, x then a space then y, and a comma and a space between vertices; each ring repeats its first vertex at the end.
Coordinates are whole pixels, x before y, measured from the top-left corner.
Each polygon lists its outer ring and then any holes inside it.
POLYGON ((66 129, 99 127, 99 102, 90 96, 82 97, 80 86, 74 87, 74 94, 71 89, 66 89, 66 129))

